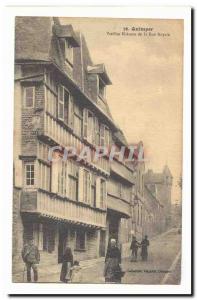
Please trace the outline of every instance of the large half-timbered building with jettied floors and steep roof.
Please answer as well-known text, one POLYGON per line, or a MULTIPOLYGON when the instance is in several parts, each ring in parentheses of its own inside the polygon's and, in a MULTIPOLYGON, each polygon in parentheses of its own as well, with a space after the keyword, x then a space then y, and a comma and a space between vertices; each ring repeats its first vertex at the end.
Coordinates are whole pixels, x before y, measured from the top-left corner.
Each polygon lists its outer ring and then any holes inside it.
POLYGON ((109 237, 119 239, 130 216, 133 170, 124 163, 66 162, 67 146, 110 146, 119 128, 106 100, 111 84, 104 64, 95 65, 85 38, 58 18, 17 17, 15 32, 15 121, 13 280, 21 281, 21 249, 31 237, 41 265, 60 263, 65 247, 86 260, 104 256, 109 237), (62 148, 59 149, 58 147, 62 148), (58 162, 51 162, 51 147, 58 162))

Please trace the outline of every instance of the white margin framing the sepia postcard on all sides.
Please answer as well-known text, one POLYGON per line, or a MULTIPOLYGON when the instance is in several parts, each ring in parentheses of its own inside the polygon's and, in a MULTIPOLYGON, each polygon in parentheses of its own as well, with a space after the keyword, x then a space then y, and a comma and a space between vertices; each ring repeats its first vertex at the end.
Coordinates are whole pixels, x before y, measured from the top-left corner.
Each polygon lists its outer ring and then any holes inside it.
POLYGON ((6 294, 188 294, 191 292, 191 9, 189 7, 7 7, 3 9, 1 36, 3 53, 3 90, 0 110, 2 147, 0 167, 1 285, 6 294), (23 284, 11 283, 12 236, 12 147, 14 95, 14 17, 15 15, 64 17, 113 17, 184 19, 184 103, 183 103, 183 231, 182 279, 180 285, 110 284, 23 284), (3 212, 3 213, 2 213, 3 212))

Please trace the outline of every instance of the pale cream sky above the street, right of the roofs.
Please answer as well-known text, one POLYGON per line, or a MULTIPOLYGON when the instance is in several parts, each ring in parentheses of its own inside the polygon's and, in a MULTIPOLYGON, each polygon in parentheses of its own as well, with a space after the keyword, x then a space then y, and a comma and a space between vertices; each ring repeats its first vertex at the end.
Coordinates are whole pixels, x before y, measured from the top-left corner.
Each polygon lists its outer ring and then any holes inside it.
POLYGON ((172 201, 179 200, 183 21, 61 18, 61 23, 81 31, 93 62, 105 64, 112 81, 106 98, 114 121, 128 143, 143 141, 146 170, 161 172, 168 165, 173 176, 172 201), (125 27, 136 35, 121 35, 125 27), (148 31, 139 36, 133 27, 153 28, 152 35, 148 31))

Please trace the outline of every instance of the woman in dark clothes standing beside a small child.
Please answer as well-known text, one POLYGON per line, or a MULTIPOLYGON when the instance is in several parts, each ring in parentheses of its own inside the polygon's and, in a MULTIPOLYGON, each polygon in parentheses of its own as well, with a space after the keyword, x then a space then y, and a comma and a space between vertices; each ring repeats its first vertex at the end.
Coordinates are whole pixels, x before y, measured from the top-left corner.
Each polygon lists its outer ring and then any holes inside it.
POLYGON ((67 283, 71 280, 71 267, 73 266, 73 254, 70 247, 66 247, 62 258, 60 281, 67 283))

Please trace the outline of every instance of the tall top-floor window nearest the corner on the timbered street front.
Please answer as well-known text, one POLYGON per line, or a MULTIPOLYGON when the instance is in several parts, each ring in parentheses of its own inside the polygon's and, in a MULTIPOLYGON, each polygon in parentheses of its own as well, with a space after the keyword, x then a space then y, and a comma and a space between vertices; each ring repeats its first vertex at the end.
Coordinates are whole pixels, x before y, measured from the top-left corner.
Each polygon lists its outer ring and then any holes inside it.
POLYGON ((62 86, 58 86, 58 118, 68 124, 70 94, 62 86))

